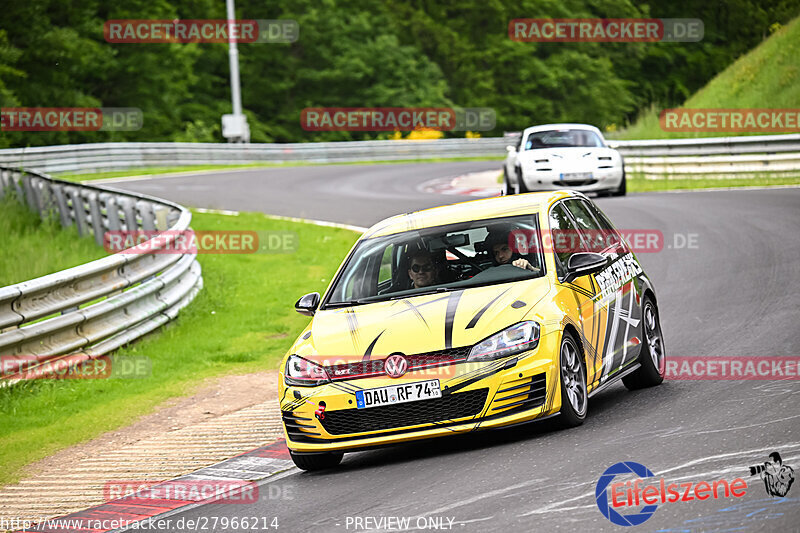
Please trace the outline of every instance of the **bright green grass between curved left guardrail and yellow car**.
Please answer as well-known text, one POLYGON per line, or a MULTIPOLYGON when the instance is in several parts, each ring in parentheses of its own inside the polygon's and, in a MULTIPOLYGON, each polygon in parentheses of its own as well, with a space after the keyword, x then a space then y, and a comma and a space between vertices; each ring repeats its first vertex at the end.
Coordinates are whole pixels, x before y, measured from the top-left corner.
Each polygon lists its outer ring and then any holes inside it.
MULTIPOLYGON (((196 213, 196 230, 289 230, 292 254, 201 255, 204 289, 178 319, 119 355, 146 356, 144 379, 38 380, 0 390, 0 484, 70 445, 133 422, 204 378, 276 369, 308 323, 294 311, 307 292, 322 292, 358 237, 352 231, 267 218, 196 213)), ((267 399, 267 398, 265 398, 267 399)))

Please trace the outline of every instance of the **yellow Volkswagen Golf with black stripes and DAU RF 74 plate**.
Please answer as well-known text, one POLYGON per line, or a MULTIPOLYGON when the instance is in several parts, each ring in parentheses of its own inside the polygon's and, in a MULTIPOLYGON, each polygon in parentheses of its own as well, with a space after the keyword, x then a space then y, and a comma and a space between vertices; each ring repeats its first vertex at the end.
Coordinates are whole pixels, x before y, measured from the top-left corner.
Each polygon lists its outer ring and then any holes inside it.
POLYGON ((304 470, 343 453, 558 417, 621 379, 661 383, 655 290, 572 191, 399 215, 353 246, 281 364, 286 443, 304 470))

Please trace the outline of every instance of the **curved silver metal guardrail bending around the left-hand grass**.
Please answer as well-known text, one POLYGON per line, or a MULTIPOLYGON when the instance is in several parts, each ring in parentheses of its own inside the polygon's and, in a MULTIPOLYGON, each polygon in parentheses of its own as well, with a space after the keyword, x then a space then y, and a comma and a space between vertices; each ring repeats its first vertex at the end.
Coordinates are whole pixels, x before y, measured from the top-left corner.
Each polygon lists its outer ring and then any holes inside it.
POLYGON ((0 287, 0 384, 37 365, 63 368, 106 354, 175 318, 202 288, 196 254, 157 253, 189 228, 191 212, 178 204, 0 167, 0 197, 9 194, 98 244, 106 231, 174 231, 153 240, 152 253, 117 253, 0 287))

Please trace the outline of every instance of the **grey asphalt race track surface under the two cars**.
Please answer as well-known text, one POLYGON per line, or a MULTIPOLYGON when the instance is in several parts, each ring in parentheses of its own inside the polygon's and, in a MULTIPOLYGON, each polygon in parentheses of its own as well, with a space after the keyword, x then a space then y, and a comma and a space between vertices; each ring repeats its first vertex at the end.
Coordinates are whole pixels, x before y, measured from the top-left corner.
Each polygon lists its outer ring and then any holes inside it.
MULTIPOLYGON (((113 186, 189 206, 368 226, 465 199, 422 193, 425 181, 499 166, 288 167, 113 186)), ((655 283, 668 357, 800 352, 800 188, 597 201, 619 228, 663 232, 661 252, 638 256, 655 283)), ((277 517, 290 532, 375 531, 381 517, 410 517, 411 529, 438 520, 457 532, 620 531, 599 512, 595 484, 612 464, 635 461, 671 481, 740 476, 749 487, 743 498, 659 504, 630 531, 797 531, 800 481, 786 498, 770 497, 748 467, 779 451, 800 476, 798 394, 797 380, 671 380, 638 392, 618 384, 590 400, 587 421, 573 430, 545 421, 349 454, 334 471, 270 479, 280 490, 263 486, 258 504, 211 504, 172 518, 277 517)))

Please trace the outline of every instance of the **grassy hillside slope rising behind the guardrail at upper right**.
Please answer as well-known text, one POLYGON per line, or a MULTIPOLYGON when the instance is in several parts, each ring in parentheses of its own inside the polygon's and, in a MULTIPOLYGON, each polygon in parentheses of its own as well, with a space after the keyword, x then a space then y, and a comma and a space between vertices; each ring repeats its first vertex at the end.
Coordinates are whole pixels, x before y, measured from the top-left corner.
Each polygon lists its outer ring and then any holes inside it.
MULTIPOLYGON (((748 54, 740 57, 681 107, 690 109, 800 107, 800 17, 775 32, 748 54)), ((644 112, 632 126, 613 139, 664 139, 753 135, 722 132, 665 132, 658 122, 660 110, 644 112)))

